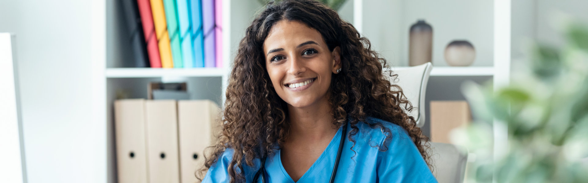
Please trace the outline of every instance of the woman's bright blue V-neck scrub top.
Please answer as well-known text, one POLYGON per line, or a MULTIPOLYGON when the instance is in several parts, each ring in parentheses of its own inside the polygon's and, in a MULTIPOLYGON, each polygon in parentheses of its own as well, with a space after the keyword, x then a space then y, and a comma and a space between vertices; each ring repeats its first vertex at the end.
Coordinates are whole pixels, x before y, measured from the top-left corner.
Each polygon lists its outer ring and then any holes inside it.
MULTIPOLYGON (((356 153, 350 149, 353 142, 345 138, 335 182, 437 182, 415 144, 402 127, 372 117, 368 117, 366 122, 379 122, 390 129, 392 140, 387 144, 388 150, 379 151, 375 147, 382 145, 384 138, 386 138, 379 127, 370 128, 368 124, 358 123, 358 134, 353 136, 356 140, 353 150, 356 153)), ((352 130, 350 124, 348 123, 346 127, 349 133, 352 130)), ((342 130, 343 127, 339 128, 325 151, 297 182, 329 181, 342 130)), ((229 182, 228 167, 232 161, 232 155, 233 149, 227 149, 220 155, 219 160, 206 172, 206 177, 202 182, 229 182)), ((268 156, 265 164, 266 182, 294 183, 280 160, 280 150, 276 150, 268 156)), ((246 182, 252 182, 253 176, 259 169, 259 159, 255 159, 253 162, 254 167, 243 165, 246 182)), ((261 182, 261 179, 258 182, 261 182)))

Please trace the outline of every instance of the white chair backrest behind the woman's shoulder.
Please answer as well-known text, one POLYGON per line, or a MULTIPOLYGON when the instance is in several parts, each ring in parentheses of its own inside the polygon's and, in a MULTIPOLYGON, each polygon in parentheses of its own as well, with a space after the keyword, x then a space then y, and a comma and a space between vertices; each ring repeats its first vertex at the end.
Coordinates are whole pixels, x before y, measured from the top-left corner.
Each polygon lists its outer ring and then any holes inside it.
MULTIPOLYGON (((425 93, 432 69, 433 65, 430 62, 412 67, 392 68, 392 74, 398 74, 398 77, 389 79, 392 84, 400 86, 406 99, 416 107, 407 113, 415 117, 418 127, 425 125, 425 93)), ((402 107, 405 109, 406 106, 402 107)))

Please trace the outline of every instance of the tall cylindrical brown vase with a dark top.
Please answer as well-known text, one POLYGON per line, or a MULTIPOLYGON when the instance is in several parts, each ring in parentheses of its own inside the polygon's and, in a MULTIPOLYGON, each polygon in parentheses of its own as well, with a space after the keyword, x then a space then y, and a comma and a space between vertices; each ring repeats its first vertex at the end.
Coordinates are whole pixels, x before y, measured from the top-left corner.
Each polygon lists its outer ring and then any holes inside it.
POLYGON ((419 19, 410 26, 409 65, 417 66, 431 62, 433 55, 433 28, 419 19))

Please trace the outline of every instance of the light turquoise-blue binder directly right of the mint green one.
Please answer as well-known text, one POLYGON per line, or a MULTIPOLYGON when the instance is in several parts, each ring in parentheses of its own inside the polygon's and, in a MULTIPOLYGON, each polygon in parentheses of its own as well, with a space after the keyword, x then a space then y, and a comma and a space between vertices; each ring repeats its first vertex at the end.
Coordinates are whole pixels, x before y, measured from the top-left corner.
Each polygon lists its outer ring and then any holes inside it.
POLYGON ((178 23, 180 47, 182 49, 183 67, 194 67, 194 46, 192 42, 192 21, 190 16, 190 0, 178 0, 178 23))

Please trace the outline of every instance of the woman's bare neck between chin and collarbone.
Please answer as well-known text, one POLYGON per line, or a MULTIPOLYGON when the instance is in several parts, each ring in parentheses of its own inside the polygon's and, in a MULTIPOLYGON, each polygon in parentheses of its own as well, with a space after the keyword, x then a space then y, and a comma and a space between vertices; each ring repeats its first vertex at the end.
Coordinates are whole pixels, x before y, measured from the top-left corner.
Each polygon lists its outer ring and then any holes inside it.
POLYGON ((288 141, 317 141, 337 133, 338 129, 333 127, 333 108, 326 98, 304 108, 288 105, 288 141))

